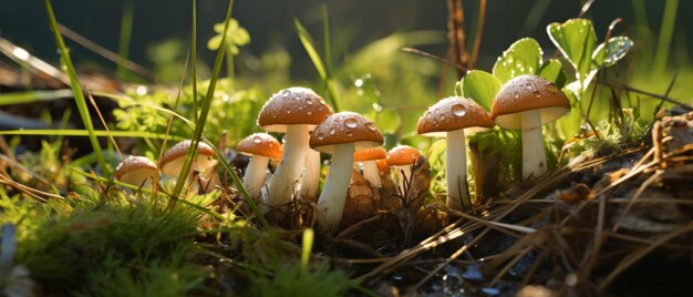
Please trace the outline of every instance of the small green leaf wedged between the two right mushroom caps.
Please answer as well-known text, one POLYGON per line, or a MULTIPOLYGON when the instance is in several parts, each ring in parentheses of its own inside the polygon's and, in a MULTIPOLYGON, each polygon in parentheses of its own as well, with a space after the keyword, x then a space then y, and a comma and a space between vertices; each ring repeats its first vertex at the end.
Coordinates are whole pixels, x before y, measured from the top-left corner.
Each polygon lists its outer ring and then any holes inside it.
POLYGON ((482 107, 490 111, 494 98, 503 84, 486 71, 472 70, 459 81, 461 95, 476 101, 482 107))

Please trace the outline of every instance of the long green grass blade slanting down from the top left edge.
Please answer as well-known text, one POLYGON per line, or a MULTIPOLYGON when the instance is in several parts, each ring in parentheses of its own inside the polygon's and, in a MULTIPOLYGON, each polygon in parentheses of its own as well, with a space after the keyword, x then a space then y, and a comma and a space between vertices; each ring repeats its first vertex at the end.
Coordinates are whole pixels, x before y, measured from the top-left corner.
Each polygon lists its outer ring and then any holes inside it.
POLYGON ((89 141, 92 144, 92 148, 96 155, 96 161, 101 166, 102 173, 105 176, 111 175, 111 167, 107 166, 105 158, 101 152, 101 145, 99 144, 99 139, 96 139, 96 134, 94 133, 94 125, 92 124, 91 115, 89 114, 89 107, 86 105, 86 100, 84 99, 84 92, 82 91, 82 85, 80 84, 80 80, 77 79, 77 73, 74 70, 74 65, 72 64, 72 59, 70 58, 70 51, 65 45, 65 41, 60 34, 60 30, 58 28, 58 21, 55 20, 55 13, 53 12, 53 7, 51 6, 51 0, 44 0, 45 9, 48 11, 49 21, 51 24, 51 29, 55 34, 55 43, 60 49, 60 60, 65 68, 65 72, 68 72, 68 76, 70 76, 70 85, 72 86, 72 93, 74 94, 74 101, 77 105, 77 110, 80 111, 80 116, 82 117, 82 122, 84 123, 84 127, 89 132, 89 141))

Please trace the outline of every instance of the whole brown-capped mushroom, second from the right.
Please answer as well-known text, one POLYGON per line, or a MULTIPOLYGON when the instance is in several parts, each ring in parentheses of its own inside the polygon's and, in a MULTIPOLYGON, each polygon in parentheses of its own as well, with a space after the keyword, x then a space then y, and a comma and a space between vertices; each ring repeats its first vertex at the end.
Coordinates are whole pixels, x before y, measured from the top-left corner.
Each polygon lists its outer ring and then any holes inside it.
POLYGON ((459 96, 438 101, 418 119, 416 132, 424 136, 443 136, 445 150, 446 205, 449 209, 463 211, 472 206, 467 187, 467 133, 475 127, 492 127, 494 121, 488 112, 476 102, 459 96), (464 207, 463 207, 464 206, 464 207))

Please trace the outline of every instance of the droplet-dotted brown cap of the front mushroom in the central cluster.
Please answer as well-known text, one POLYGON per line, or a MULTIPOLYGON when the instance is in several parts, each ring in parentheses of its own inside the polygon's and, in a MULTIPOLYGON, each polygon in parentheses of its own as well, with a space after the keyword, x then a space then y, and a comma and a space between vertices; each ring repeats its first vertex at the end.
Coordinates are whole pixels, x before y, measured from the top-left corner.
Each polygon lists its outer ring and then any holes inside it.
POLYGON ((383 134, 373 124, 354 112, 340 112, 328 116, 310 135, 310 147, 331 154, 334 145, 355 143, 361 151, 383 144, 383 134))

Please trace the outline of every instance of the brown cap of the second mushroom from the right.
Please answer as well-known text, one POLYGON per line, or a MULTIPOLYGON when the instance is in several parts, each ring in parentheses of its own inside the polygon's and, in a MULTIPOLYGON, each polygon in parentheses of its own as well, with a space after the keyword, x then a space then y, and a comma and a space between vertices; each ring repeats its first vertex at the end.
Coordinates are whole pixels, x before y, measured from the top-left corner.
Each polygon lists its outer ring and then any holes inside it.
POLYGON ((444 133, 468 127, 493 127, 494 121, 484 107, 461 96, 442 99, 418 119, 416 132, 424 136, 445 136, 444 133))

